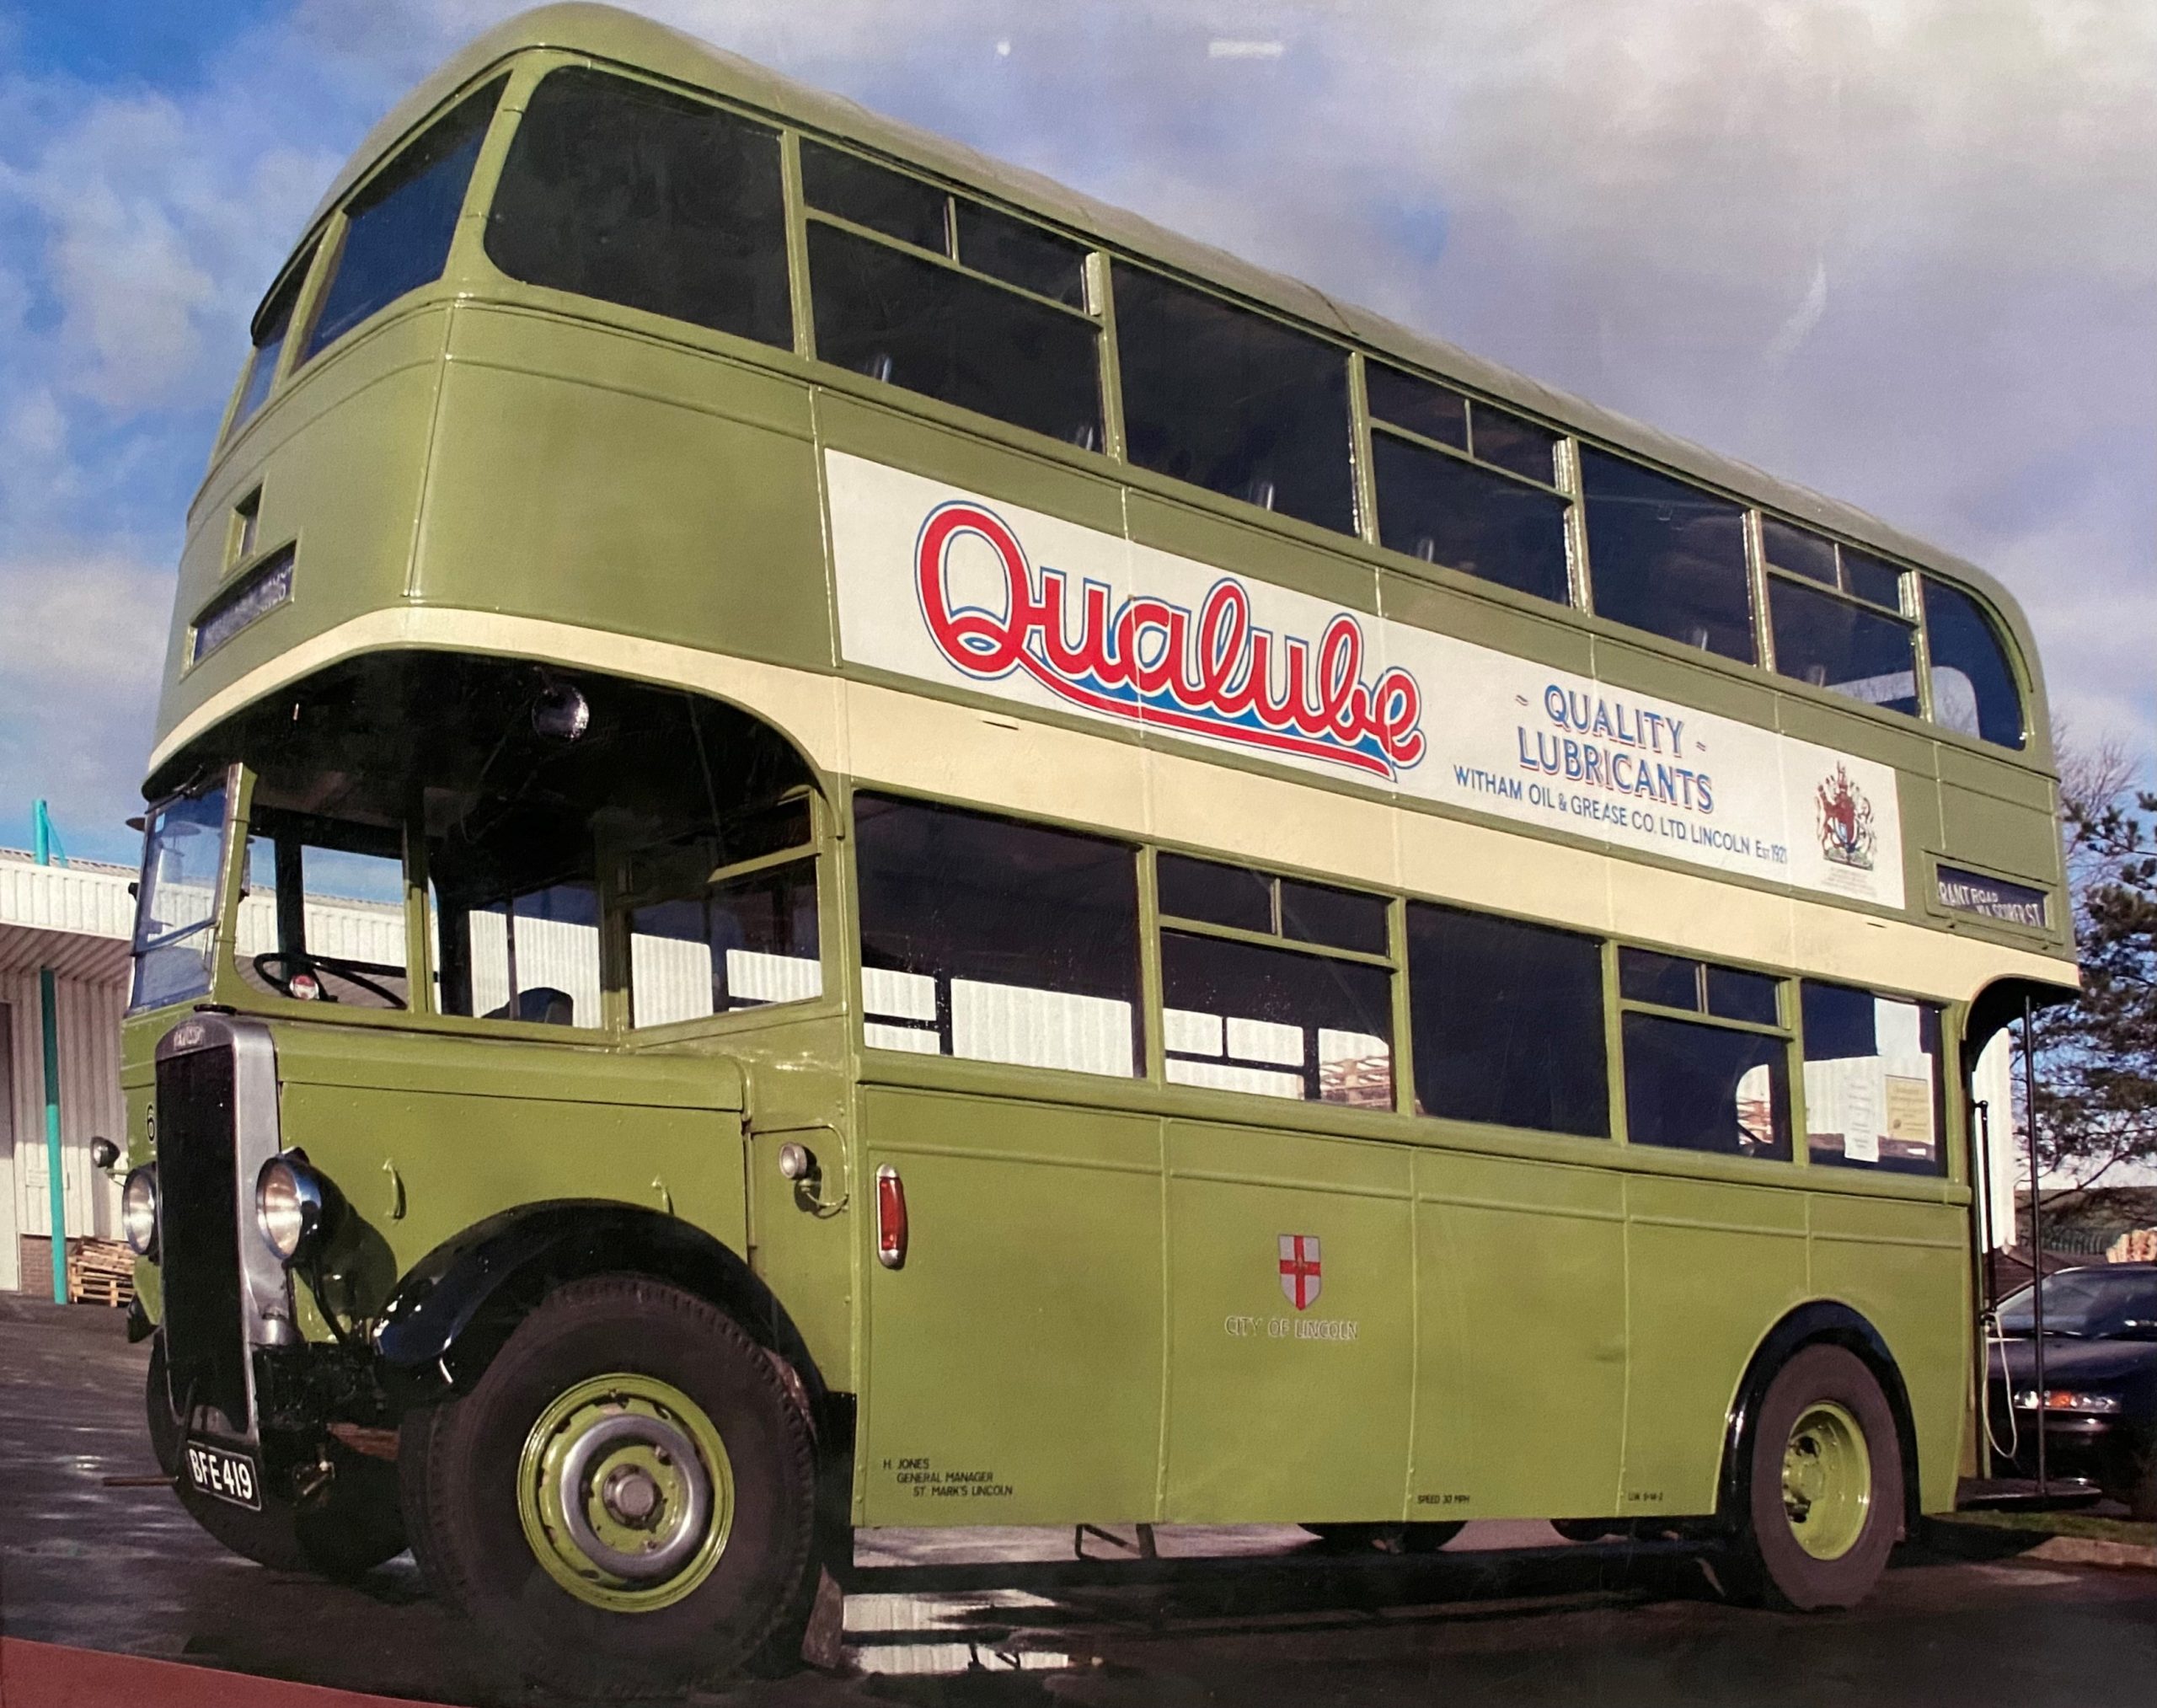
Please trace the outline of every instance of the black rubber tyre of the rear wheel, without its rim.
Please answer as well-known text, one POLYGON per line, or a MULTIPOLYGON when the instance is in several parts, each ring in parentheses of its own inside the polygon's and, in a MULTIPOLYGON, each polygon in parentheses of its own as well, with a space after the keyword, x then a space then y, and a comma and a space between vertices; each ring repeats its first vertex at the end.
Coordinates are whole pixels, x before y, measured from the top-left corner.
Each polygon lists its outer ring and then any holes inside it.
POLYGON ((1902 1449, 1894 1410, 1864 1359, 1840 1346, 1805 1346, 1775 1372, 1760 1397, 1743 1497, 1730 1551, 1734 1592, 1797 1613, 1855 1607, 1870 1594, 1902 1531, 1902 1449), (1849 1419, 1864 1443, 1864 1471, 1842 1479, 1855 1494, 1851 1540, 1833 1557, 1799 1540, 1812 1507, 1786 1492, 1786 1454, 1799 1451, 1792 1430, 1823 1413, 1849 1419))

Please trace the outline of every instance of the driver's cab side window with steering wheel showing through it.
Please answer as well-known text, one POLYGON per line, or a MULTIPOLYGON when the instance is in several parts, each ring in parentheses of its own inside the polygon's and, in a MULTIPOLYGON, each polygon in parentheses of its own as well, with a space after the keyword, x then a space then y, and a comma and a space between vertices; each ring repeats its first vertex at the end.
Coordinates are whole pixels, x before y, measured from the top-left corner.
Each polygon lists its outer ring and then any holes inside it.
POLYGON ((239 977, 300 1003, 401 1009, 403 837, 259 809, 248 826, 239 977))

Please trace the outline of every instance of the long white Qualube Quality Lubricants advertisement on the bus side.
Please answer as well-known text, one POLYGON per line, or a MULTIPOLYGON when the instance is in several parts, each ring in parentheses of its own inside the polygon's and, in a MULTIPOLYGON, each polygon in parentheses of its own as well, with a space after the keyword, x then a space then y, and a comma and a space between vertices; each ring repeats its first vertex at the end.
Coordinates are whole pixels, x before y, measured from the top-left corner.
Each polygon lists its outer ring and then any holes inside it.
POLYGON ((826 451, 854 664, 1902 906, 1890 766, 826 451))

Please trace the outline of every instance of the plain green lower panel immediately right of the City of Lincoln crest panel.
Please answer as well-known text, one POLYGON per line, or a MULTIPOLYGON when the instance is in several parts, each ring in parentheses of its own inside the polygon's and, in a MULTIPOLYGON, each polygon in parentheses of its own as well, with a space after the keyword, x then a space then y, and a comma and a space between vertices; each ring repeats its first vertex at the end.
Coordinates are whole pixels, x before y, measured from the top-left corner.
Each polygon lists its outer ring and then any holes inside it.
POLYGON ((1415 1160, 1411 1518, 1600 1518, 1624 1445, 1624 1182, 1415 1160))

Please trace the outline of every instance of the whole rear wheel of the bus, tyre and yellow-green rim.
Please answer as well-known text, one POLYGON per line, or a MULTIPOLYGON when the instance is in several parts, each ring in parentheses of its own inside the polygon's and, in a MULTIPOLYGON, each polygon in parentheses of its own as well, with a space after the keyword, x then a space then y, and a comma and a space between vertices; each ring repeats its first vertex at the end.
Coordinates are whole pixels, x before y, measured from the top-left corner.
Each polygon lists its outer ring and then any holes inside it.
POLYGON ((1808 1346, 1775 1372, 1749 1445, 1739 1583, 1769 1607, 1855 1607, 1902 1527, 1894 1413, 1866 1363, 1808 1346))

